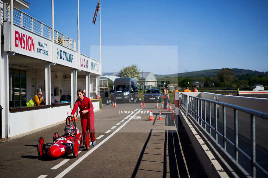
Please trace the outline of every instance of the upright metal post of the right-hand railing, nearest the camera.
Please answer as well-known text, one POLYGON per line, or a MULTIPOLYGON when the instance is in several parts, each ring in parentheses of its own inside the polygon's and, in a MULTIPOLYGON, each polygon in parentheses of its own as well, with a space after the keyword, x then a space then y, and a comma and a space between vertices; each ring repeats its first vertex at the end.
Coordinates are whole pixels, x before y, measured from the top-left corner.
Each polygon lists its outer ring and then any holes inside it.
POLYGON ((252 177, 256 177, 256 167, 253 165, 256 161, 256 132, 255 132, 255 116, 250 115, 251 117, 251 174, 252 177))

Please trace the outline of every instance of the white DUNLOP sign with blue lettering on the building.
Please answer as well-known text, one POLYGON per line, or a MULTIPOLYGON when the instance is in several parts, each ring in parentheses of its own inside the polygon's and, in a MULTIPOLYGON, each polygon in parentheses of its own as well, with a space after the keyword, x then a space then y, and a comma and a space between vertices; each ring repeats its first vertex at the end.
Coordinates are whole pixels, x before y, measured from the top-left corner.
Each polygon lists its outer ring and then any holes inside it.
POLYGON ((55 43, 55 63, 77 69, 77 52, 55 43))

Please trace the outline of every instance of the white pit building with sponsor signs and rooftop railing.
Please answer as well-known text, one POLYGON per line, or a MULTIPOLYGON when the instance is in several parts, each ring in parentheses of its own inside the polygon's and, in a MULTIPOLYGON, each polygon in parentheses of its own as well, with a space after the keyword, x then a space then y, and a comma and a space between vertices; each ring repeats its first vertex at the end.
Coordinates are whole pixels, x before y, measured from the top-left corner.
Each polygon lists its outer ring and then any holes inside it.
MULTIPOLYGON (((79 55, 76 41, 61 32, 54 30, 52 39, 51 27, 19 10, 29 3, 11 1, 14 8, 0 1, 0 139, 62 122, 70 115, 77 89, 91 98, 99 91, 100 62, 79 55), (44 105, 26 107, 38 91, 43 92, 44 105), (51 105, 61 95, 71 95, 71 103, 51 105)), ((99 101, 92 102, 98 110, 99 101)))

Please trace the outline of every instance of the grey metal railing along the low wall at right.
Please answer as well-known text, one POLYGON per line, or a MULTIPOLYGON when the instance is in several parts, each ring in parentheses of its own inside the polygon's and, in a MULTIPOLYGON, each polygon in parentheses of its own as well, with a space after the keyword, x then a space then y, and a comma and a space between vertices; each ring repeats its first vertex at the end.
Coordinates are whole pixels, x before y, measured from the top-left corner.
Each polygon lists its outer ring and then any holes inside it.
MULTIPOLYGON (((268 114, 259 112, 256 110, 243 108, 240 106, 222 103, 218 101, 213 101, 209 99, 203 99, 199 97, 193 97, 190 95, 186 95, 181 93, 181 108, 184 109, 185 116, 191 116, 191 120, 195 122, 198 126, 198 129, 207 137, 207 139, 211 142, 211 144, 216 148, 221 157, 229 163, 231 168, 239 175, 239 177, 248 177, 251 175, 253 178, 256 177, 256 168, 264 175, 268 177, 268 172, 262 166, 260 166, 256 162, 256 143, 255 143, 255 116, 260 117, 262 119, 268 119, 268 114), (202 102, 204 108, 202 108, 202 102), (208 103, 208 113, 207 113, 207 103, 208 103), (211 125, 211 103, 214 104, 214 126, 211 125), (221 134, 218 131, 218 122, 217 122, 217 110, 218 107, 222 106, 223 113, 223 123, 222 129, 223 133, 221 134), (226 135, 226 107, 234 109, 234 142, 231 141, 230 138, 227 138, 226 135), (251 119, 251 155, 246 154, 238 145, 238 115, 237 111, 241 111, 244 113, 248 113, 251 119), (204 115, 204 117, 203 117, 204 115), (208 115, 208 118, 207 118, 208 115), (208 119, 208 121, 207 121, 208 119), (207 131, 207 127, 209 132, 207 131), (215 137, 211 135, 211 131, 214 131, 215 137), (223 139, 223 146, 221 146, 218 142, 218 136, 223 139), (232 157, 226 150, 226 143, 230 144, 234 149, 234 157, 232 157), (248 173, 247 170, 242 168, 242 166, 238 163, 238 153, 241 154, 247 161, 251 164, 251 174, 248 173)), ((204 139, 203 139, 204 140, 204 139)), ((214 155, 215 156, 215 155, 214 155)), ((216 157, 216 156, 215 156, 216 157)), ((219 157, 217 157, 220 159, 219 157)))

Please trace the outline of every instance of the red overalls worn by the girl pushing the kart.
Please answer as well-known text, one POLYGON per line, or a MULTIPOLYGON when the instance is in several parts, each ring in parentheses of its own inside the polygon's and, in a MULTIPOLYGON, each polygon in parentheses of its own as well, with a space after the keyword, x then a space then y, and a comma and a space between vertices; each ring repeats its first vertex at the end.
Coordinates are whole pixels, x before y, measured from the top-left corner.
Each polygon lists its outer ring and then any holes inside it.
POLYGON ((81 121, 81 127, 82 127, 82 135, 85 140, 85 134, 87 129, 89 128, 89 135, 91 141, 95 141, 95 128, 94 128, 94 111, 93 111, 93 105, 91 100, 88 97, 83 98, 81 101, 80 99, 77 99, 75 101, 75 104, 73 105, 72 115, 75 114, 77 108, 79 107, 80 111, 80 121, 81 121), (82 111, 88 110, 86 114, 83 114, 82 111))

